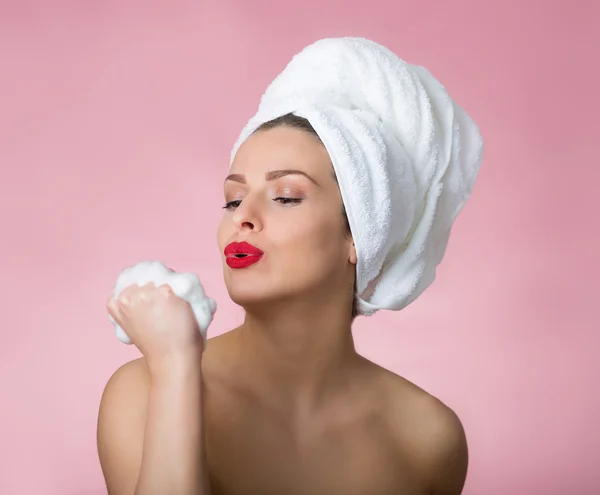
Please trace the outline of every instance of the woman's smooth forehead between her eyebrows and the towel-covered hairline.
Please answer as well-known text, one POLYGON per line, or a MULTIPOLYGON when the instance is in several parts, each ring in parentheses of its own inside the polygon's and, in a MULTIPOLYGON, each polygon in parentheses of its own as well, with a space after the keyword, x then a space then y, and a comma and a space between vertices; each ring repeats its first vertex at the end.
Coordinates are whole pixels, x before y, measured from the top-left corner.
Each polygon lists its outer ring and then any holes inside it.
POLYGON ((232 173, 249 174, 275 168, 294 168, 324 176, 331 160, 316 136, 301 129, 276 127, 251 135, 238 149, 232 173))

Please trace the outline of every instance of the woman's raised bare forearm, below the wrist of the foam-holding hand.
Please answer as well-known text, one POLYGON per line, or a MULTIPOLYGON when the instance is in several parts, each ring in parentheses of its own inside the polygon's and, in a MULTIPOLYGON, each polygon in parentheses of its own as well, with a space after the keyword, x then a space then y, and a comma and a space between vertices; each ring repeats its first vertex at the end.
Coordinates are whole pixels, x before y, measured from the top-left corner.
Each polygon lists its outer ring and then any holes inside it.
POLYGON ((208 495, 200 359, 154 372, 135 495, 208 495))

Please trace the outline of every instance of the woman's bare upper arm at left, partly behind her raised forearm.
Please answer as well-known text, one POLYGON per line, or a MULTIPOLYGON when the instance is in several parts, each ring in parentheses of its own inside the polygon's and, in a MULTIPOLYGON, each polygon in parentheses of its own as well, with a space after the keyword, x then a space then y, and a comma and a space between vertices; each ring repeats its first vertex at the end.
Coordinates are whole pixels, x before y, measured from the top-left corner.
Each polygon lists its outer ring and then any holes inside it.
POLYGON ((142 359, 110 377, 100 401, 97 444, 109 495, 133 495, 142 462, 148 374, 142 359))

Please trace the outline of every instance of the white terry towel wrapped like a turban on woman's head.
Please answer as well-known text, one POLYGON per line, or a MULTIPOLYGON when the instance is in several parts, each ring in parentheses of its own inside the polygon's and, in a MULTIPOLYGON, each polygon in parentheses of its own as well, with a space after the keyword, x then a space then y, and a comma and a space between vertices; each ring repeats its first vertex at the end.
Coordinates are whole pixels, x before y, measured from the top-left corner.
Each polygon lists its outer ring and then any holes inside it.
POLYGON ((262 123, 308 119, 338 178, 357 251, 358 310, 400 310, 434 280, 482 160, 477 125, 428 70, 363 38, 328 38, 269 85, 231 153, 262 123))

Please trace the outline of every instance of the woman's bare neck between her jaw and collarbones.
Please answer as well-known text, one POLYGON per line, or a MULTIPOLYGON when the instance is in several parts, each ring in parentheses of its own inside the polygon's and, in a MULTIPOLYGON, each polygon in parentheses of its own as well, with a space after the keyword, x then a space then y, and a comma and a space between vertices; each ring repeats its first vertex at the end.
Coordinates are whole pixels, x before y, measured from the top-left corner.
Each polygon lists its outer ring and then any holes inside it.
POLYGON ((247 378, 281 404, 314 408, 357 362, 346 306, 296 300, 246 308, 237 338, 247 378))

